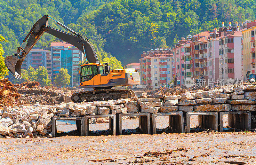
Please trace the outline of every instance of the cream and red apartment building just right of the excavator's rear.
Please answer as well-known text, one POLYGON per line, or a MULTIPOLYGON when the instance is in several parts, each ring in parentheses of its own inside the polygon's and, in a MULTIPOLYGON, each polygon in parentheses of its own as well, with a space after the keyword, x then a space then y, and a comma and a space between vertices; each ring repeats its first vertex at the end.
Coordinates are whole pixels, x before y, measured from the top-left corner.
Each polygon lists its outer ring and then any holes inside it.
POLYGON ((173 52, 169 50, 143 52, 140 59, 140 80, 142 85, 167 86, 174 75, 173 52))

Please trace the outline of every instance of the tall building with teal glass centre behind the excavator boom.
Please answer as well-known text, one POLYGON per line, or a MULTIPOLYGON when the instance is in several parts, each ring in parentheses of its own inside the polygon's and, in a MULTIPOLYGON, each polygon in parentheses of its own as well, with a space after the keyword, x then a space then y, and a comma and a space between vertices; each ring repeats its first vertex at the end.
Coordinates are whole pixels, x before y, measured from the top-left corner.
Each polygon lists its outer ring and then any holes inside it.
POLYGON ((59 74, 60 68, 67 68, 70 78, 69 86, 77 86, 79 73, 77 67, 84 60, 83 53, 75 46, 66 43, 51 43, 52 49, 52 83, 59 74))

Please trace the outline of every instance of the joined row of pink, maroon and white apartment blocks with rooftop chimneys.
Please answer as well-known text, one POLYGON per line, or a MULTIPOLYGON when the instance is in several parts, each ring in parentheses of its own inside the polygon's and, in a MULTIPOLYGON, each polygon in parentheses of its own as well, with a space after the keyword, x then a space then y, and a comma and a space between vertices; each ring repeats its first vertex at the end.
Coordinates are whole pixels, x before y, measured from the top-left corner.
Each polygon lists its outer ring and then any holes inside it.
POLYGON ((188 35, 181 38, 175 47, 174 74, 178 76, 178 81, 184 85, 187 77, 200 79, 204 77, 206 85, 213 83, 234 82, 241 79, 242 57, 241 57, 241 30, 243 27, 224 26, 224 22, 214 31, 204 31, 196 35, 188 35), (181 66, 181 67, 179 67, 181 66), (236 67, 235 67, 236 66, 236 67))

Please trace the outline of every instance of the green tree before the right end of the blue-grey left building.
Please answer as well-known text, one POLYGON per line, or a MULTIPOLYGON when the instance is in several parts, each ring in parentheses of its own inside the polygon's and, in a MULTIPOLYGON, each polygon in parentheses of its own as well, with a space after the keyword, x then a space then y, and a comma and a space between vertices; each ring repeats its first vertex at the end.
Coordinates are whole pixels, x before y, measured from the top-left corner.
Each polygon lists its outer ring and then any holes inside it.
POLYGON ((50 86, 51 81, 48 77, 48 71, 45 67, 40 66, 36 69, 36 80, 39 82, 41 86, 50 86))

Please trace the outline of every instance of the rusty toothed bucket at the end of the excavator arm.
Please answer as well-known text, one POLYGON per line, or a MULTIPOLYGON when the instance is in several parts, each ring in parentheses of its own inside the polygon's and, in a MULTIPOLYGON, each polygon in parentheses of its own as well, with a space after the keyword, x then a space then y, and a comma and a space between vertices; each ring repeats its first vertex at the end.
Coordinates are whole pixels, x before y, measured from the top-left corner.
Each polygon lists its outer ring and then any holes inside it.
POLYGON ((22 79, 21 77, 21 65, 24 59, 19 59, 17 56, 7 56, 4 59, 4 63, 7 69, 12 73, 15 78, 22 79))

